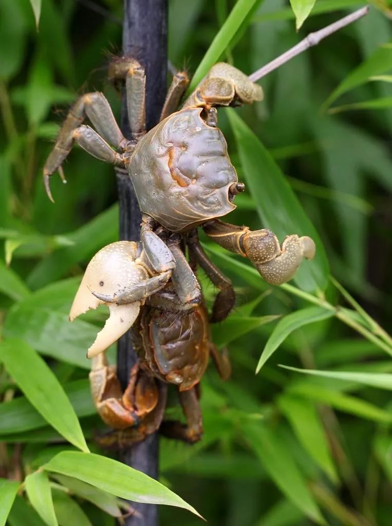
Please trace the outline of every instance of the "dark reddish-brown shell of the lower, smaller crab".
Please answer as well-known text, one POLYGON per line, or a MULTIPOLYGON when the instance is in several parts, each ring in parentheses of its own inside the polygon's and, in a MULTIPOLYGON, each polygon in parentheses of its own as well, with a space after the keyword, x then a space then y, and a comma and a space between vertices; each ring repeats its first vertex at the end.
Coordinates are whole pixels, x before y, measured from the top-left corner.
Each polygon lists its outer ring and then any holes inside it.
POLYGON ((210 334, 204 306, 178 312, 145 308, 140 329, 144 358, 155 376, 180 391, 192 389, 208 366, 210 334))

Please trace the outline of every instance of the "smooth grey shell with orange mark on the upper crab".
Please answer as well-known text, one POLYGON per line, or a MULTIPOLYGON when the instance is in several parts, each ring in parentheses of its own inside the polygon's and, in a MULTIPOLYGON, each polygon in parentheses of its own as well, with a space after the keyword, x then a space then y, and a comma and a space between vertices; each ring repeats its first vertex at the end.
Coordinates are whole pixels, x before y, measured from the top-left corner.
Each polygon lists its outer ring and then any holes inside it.
POLYGON ((238 179, 226 140, 202 111, 185 108, 164 119, 140 140, 129 164, 140 209, 173 232, 236 208, 229 187, 238 179))

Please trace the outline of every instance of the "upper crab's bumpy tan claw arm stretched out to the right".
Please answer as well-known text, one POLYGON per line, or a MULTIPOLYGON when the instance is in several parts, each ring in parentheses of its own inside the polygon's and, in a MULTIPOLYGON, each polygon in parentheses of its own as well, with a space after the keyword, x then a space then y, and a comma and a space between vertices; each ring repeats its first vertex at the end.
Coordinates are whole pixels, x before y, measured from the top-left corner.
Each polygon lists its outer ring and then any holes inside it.
POLYGON ((303 258, 313 259, 316 247, 308 236, 287 236, 282 247, 270 230, 251 231, 214 219, 203 225, 207 236, 221 247, 247 257, 271 285, 292 279, 303 258))

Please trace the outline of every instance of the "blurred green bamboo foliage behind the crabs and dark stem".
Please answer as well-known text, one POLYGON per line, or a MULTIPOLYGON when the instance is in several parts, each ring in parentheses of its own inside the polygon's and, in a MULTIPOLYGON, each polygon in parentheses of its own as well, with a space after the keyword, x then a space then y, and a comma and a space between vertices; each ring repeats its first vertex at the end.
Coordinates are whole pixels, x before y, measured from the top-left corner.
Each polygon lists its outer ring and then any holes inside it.
MULTIPOLYGON (((293 1, 303 4, 312 3, 293 1)), ((195 72, 233 5, 169 0, 174 67, 195 72)), ((288 2, 259 0, 222 59, 250 74, 361 5, 317 0, 296 32, 288 2)), ((364 19, 263 79, 263 102, 219 112, 230 157, 250 190, 228 220, 270 227, 281 239, 309 234, 310 220, 336 281, 319 256, 294 285, 269 287, 246 261, 205 241, 237 291, 232 316, 213 328, 216 343, 229 348, 233 375, 223 383, 209 368, 202 382, 205 436, 193 447, 162 439, 160 471, 209 524, 390 524, 392 340, 380 326, 390 329, 392 315, 391 14, 387 2, 374 0, 364 19), (327 372, 302 375, 278 364, 327 372)), ((27 0, 0 2, 2 336, 45 358, 94 450, 100 424, 85 352, 106 313, 72 325, 67 313, 88 260, 118 238, 115 177, 111 166, 75 148, 64 165, 68 184, 53 178, 53 205, 41 172, 78 95, 102 90, 119 115, 106 71, 120 53, 121 21, 120 0, 43 0, 37 32, 27 0)), ((211 301, 213 287, 200 279, 211 301)), ((0 476, 22 481, 72 447, 7 369, 0 369, 0 476)), ((175 393, 168 412, 179 414, 175 393)), ((59 524, 114 524, 83 498, 75 479, 51 480, 59 524)), ((9 524, 42 524, 23 490, 9 524)), ((174 508, 160 514, 162 524, 199 523, 174 508)))

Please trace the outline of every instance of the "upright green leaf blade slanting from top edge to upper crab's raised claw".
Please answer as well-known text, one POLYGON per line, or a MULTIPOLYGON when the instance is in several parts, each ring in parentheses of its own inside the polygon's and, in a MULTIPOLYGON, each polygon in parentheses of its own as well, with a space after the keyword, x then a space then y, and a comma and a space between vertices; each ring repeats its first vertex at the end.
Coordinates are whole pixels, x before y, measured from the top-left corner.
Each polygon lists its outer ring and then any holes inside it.
POLYGON ((202 62, 198 65, 190 83, 188 94, 192 93, 200 80, 208 73, 208 70, 217 62, 220 55, 232 41, 234 35, 241 27, 247 14, 258 0, 237 0, 226 22, 215 35, 214 40, 209 46, 202 62))

